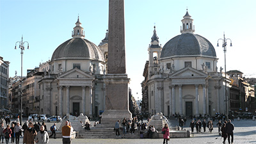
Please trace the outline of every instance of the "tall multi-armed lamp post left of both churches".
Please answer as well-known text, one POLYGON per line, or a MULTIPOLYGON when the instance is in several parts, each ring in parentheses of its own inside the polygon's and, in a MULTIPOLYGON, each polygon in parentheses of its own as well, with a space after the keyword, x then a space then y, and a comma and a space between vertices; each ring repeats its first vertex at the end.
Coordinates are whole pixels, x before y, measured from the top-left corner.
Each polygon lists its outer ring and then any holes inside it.
MULTIPOLYGON (((18 41, 16 42, 15 44, 15 49, 17 49, 16 45, 17 43, 19 43, 19 49, 21 50, 20 51, 20 54, 21 54, 21 84, 20 84, 20 124, 22 124, 22 95, 23 95, 23 92, 22 92, 22 58, 23 58, 23 51, 25 51, 25 48, 24 48, 24 45, 25 44, 28 44, 27 41, 23 42, 23 36, 21 36, 21 41, 18 41)), ((29 49, 29 44, 28 44, 28 49, 29 49)))

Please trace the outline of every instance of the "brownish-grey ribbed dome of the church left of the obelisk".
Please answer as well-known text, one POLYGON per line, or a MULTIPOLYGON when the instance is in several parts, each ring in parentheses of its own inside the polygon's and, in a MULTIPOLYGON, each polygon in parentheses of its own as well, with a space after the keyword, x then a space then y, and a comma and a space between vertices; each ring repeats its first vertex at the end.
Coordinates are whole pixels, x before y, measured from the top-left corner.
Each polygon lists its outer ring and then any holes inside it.
POLYGON ((99 47, 83 38, 71 38, 67 40, 57 47, 52 54, 52 61, 68 59, 104 61, 99 47))

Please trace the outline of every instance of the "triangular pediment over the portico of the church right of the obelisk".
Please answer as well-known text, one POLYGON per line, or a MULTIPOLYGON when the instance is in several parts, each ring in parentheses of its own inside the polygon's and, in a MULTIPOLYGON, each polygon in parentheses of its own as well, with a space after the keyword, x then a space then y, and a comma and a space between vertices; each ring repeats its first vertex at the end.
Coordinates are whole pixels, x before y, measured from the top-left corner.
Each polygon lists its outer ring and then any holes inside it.
POLYGON ((200 70, 196 70, 192 67, 185 67, 177 72, 173 72, 170 77, 207 77, 208 75, 200 70))

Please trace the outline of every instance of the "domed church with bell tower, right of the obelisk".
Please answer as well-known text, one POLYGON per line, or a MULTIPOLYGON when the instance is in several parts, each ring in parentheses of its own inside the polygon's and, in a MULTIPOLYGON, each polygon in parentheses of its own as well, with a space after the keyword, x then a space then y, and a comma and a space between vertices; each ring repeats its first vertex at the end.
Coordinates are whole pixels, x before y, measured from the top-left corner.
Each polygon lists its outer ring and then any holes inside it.
POLYGON ((218 72, 215 49, 195 34, 188 10, 181 22, 181 35, 163 48, 154 27, 142 83, 147 112, 166 116, 225 113, 225 82, 222 69, 218 72))

